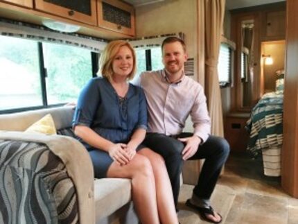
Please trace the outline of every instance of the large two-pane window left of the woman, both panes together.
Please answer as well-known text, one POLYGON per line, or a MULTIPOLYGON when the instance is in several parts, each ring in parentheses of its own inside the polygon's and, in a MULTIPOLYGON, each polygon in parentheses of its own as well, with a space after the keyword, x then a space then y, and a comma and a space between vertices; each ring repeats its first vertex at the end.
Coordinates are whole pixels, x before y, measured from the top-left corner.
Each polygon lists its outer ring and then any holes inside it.
POLYGON ((0 112, 76 101, 91 62, 86 49, 0 35, 0 112))

